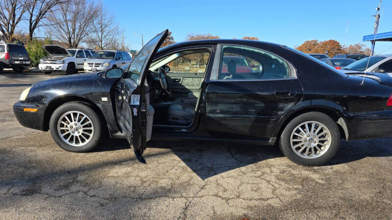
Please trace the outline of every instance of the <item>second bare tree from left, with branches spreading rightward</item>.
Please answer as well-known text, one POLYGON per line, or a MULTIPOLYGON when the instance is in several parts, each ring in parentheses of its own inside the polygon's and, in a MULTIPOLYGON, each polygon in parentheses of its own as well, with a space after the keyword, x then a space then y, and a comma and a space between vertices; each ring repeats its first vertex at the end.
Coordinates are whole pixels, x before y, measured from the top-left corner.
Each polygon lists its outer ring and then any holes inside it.
POLYGON ((28 17, 29 40, 33 40, 35 29, 44 26, 44 20, 49 12, 58 4, 67 3, 69 0, 25 0, 28 17))

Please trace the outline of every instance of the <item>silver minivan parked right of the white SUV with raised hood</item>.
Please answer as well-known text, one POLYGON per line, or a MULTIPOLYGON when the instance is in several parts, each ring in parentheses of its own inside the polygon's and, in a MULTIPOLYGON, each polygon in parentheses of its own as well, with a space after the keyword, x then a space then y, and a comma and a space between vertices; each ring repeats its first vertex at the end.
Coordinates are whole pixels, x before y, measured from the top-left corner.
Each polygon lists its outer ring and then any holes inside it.
POLYGON ((132 61, 131 55, 120 50, 100 50, 84 62, 86 72, 94 72, 124 66, 132 61))

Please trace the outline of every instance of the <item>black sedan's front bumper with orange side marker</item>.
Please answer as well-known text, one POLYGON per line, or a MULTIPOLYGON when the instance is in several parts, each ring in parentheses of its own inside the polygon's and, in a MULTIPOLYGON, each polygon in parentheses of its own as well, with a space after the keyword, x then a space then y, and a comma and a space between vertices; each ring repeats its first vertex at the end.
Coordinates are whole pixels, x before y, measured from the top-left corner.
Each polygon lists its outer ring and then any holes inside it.
POLYGON ((19 101, 14 104, 13 110, 18 122, 31 129, 47 131, 45 128, 44 115, 48 105, 27 104, 24 101, 19 101), (37 109, 36 112, 25 111, 24 109, 37 109))

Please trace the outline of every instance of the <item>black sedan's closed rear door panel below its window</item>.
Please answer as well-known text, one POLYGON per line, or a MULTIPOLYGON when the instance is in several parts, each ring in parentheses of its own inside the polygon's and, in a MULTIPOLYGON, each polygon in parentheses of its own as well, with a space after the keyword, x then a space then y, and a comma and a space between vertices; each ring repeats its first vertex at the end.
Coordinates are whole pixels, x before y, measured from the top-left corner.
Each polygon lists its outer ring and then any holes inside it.
POLYGON ((301 98, 297 79, 211 81, 206 88, 207 127, 212 135, 269 138, 278 119, 301 98))

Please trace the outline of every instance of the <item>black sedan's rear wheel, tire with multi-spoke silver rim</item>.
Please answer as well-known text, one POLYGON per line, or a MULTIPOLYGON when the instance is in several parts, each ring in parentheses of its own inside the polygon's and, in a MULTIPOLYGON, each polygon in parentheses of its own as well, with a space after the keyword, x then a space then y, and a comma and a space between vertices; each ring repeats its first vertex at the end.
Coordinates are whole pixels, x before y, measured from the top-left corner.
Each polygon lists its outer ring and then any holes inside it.
POLYGON ((317 166, 327 162, 337 152, 339 144, 340 131, 336 122, 328 115, 316 111, 295 117, 284 128, 279 140, 282 153, 294 163, 304 166, 317 166), (314 130, 312 123, 315 125, 314 130), (312 132, 308 133, 305 124, 312 132), (322 134, 323 132, 326 133, 322 134))

